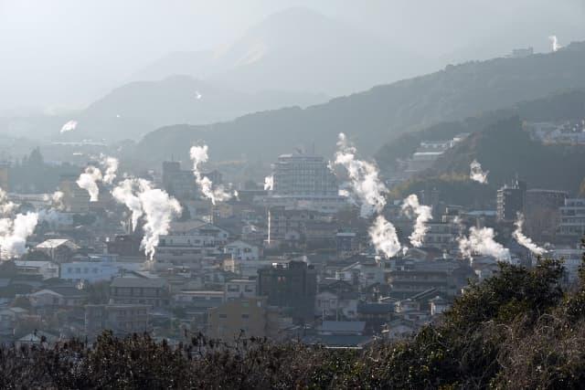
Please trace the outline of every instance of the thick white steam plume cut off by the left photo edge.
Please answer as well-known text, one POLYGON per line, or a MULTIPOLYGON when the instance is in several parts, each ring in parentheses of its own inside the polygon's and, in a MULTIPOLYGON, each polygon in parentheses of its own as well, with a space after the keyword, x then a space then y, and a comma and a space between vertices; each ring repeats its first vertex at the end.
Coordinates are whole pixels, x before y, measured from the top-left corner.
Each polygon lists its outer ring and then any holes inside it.
POLYGON ((37 213, 17 214, 14 219, 0 219, 2 258, 19 257, 27 253, 27 237, 33 234, 37 222, 37 213))

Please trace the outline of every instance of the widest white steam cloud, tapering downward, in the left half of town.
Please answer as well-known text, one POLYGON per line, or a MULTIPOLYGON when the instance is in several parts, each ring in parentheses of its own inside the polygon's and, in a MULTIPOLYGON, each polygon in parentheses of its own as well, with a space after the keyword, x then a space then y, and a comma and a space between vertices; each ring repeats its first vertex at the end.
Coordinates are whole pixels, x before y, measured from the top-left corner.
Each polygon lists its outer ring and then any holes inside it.
POLYGON ((164 190, 154 188, 149 181, 136 178, 123 180, 112 190, 112 195, 132 212, 133 229, 138 225, 138 220, 144 217, 141 246, 152 260, 159 237, 168 234, 171 221, 181 214, 178 201, 164 190))

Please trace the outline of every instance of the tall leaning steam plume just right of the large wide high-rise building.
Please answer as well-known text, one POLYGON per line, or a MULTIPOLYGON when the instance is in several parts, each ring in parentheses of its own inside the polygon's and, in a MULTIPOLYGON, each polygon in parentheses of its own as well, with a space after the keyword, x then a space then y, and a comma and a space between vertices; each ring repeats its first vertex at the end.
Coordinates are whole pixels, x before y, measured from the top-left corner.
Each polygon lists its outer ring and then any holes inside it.
POLYGON ((339 133, 335 164, 346 168, 352 191, 361 204, 360 215, 368 217, 380 213, 386 206, 384 193, 388 188, 380 181, 376 165, 356 159, 356 148, 349 145, 343 132, 339 133))

